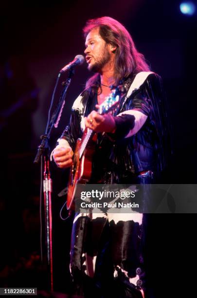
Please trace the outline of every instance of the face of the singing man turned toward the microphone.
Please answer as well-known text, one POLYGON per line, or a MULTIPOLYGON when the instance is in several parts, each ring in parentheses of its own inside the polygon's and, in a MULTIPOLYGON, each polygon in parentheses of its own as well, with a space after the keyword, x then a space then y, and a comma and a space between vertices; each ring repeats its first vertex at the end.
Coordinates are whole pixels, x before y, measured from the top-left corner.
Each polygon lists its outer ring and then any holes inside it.
POLYGON ((110 61, 108 44, 99 34, 99 28, 92 29, 86 37, 86 61, 92 72, 101 72, 110 61))

